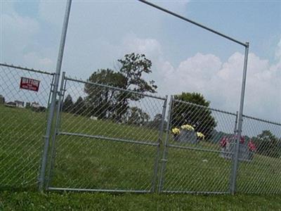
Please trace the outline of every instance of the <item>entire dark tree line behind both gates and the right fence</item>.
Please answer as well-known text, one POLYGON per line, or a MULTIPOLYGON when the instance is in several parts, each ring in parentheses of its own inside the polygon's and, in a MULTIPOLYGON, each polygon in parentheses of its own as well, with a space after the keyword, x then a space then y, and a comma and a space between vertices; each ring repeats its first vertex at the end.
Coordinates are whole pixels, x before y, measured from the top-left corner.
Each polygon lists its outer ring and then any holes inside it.
MULTIPOLYGON (((150 117, 150 114, 141 108, 132 106, 133 102, 143 99, 142 94, 157 92, 155 81, 145 79, 152 72, 152 62, 144 54, 138 53, 126 54, 124 58, 117 61, 119 67, 117 70, 99 69, 93 72, 88 81, 136 91, 138 94, 86 83, 84 85, 86 96, 79 96, 74 102, 72 96, 67 95, 63 102, 63 111, 75 115, 95 116, 100 120, 159 127, 162 114, 150 117)), ((218 142, 215 139, 218 134, 221 136, 223 132, 216 132, 217 122, 209 109, 210 102, 202 94, 195 92, 182 92, 175 95, 174 98, 178 101, 174 101, 171 127, 190 124, 195 128, 195 132, 205 135, 206 141, 218 142), (181 101, 188 103, 181 103, 181 101)), ((165 125, 166 123, 164 121, 165 125)), ((246 136, 246 139, 248 138, 246 136)), ((263 131, 251 139, 257 146, 257 153, 275 158, 280 157, 280 140, 270 131, 263 131)))

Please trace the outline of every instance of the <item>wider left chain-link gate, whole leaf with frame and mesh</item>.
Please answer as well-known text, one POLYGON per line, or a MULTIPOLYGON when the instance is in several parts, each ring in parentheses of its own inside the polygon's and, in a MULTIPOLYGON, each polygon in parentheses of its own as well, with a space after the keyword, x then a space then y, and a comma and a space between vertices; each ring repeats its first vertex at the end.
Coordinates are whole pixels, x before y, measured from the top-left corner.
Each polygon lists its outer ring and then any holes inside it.
POLYGON ((48 190, 152 192, 166 98, 63 76, 48 190))

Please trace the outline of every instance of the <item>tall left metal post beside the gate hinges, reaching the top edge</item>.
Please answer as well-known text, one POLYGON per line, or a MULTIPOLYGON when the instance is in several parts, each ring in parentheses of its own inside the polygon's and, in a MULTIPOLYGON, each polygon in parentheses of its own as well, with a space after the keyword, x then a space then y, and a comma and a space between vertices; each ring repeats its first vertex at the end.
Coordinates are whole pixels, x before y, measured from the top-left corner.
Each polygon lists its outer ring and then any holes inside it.
POLYGON ((66 39, 66 33, 67 33, 68 20, 70 18, 71 2, 72 2, 72 0, 67 0, 65 18, 64 18, 64 22, 63 22, 63 32, 62 32, 61 38, 60 38, 60 49, 58 52, 58 61, 57 61, 57 66, 56 66, 56 70, 55 70, 55 82, 53 84, 53 93, 52 93, 52 97, 51 97, 50 110, 48 113, 44 150, 43 150, 43 155, 42 155, 42 160, 41 160, 41 170, 40 170, 40 174, 39 174, 39 191, 43 191, 44 184, 45 184, 46 165, 47 165, 47 160, 48 160, 48 147, 49 147, 50 136, 51 136, 53 116, 55 113, 55 102, 56 102, 57 93, 58 93, 58 82, 60 80, 60 69, 61 69, 62 62, 63 62, 63 51, 65 49, 65 39, 66 39))

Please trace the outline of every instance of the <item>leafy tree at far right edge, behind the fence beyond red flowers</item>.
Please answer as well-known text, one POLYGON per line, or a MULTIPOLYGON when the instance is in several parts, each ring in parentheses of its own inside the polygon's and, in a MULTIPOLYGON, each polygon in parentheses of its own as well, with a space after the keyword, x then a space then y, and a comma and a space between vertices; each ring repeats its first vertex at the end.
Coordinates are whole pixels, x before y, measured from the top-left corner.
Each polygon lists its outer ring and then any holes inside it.
POLYGON ((273 158, 280 158, 280 140, 269 130, 264 130, 261 134, 252 139, 257 146, 257 153, 273 158))

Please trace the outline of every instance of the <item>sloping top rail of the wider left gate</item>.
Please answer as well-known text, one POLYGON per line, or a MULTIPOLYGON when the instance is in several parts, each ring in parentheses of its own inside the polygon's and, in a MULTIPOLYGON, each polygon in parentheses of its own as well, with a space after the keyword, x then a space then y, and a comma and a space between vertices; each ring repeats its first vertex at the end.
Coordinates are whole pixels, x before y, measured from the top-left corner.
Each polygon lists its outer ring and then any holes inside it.
POLYGON ((118 88, 118 87, 112 87, 112 86, 105 85, 105 84, 98 84, 98 83, 95 83, 95 82, 84 81, 82 79, 73 79, 71 77, 65 77, 65 79, 69 80, 69 81, 72 81, 72 82, 80 82, 80 83, 84 83, 84 84, 93 84, 93 85, 96 85, 98 87, 105 87, 105 88, 108 88, 108 89, 116 89, 116 90, 119 90, 119 91, 126 91, 126 92, 130 92, 130 93, 133 93, 133 94, 138 94, 138 95, 141 95, 141 96, 156 98, 156 99, 159 99, 159 100, 162 100, 162 101, 166 101, 166 98, 167 98, 167 96, 166 97, 153 96, 151 94, 143 94, 143 93, 140 93, 138 91, 133 91, 131 89, 122 89, 122 88, 118 88))

